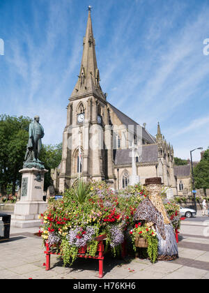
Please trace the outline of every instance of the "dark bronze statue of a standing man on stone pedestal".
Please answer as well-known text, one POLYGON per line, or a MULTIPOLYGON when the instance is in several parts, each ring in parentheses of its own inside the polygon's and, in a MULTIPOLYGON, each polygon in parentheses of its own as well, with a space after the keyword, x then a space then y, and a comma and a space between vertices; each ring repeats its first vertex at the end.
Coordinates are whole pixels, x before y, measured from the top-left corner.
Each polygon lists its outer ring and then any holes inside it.
POLYGON ((39 120, 40 117, 35 116, 34 121, 29 124, 29 142, 24 158, 25 161, 33 160, 39 162, 38 157, 42 147, 41 139, 45 135, 39 120))

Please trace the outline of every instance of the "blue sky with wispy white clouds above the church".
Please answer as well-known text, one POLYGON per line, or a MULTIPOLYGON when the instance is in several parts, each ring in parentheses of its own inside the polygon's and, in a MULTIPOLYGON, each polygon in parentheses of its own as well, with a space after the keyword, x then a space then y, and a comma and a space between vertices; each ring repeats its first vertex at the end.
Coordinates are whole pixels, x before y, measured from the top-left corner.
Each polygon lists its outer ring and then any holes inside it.
MULTIPOLYGON (((40 116, 44 144, 62 140, 92 21, 109 102, 173 144, 175 156, 209 146, 208 0, 0 0, 0 113, 40 116)), ((193 152, 199 160, 199 151, 193 152)))

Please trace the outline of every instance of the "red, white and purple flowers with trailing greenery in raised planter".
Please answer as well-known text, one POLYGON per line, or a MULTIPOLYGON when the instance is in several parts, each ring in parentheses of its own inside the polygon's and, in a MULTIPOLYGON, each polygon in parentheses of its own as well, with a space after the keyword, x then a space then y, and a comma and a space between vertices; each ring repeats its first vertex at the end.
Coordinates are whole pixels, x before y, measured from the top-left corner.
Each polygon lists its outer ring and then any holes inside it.
MULTIPOLYGON (((148 257, 155 262, 155 230, 134 221, 137 206, 146 197, 146 189, 140 184, 115 191, 104 181, 80 181, 76 188, 66 190, 63 198, 49 201, 47 211, 40 215, 42 239, 49 247, 56 246, 66 265, 76 260, 79 250, 94 257, 96 236, 106 235, 104 244, 114 255, 127 237, 134 244, 136 236, 141 236, 148 241, 148 257)), ((178 217, 175 204, 166 202, 165 206, 171 220, 178 217)))

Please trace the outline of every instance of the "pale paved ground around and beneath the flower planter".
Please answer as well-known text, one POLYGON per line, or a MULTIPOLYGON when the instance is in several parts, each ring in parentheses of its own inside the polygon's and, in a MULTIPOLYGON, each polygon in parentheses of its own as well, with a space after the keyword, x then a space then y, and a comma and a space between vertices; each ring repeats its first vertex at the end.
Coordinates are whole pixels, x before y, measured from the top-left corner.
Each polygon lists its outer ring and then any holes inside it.
MULTIPOLYGON (((0 279, 99 279, 98 260, 78 259, 63 267, 57 255, 51 255, 51 269, 45 270, 42 238, 34 235, 38 227, 10 227, 10 239, 0 241, 0 279)), ((208 279, 209 217, 181 221, 177 260, 156 262, 139 258, 118 260, 104 256, 104 277, 111 280, 137 279, 208 279)))

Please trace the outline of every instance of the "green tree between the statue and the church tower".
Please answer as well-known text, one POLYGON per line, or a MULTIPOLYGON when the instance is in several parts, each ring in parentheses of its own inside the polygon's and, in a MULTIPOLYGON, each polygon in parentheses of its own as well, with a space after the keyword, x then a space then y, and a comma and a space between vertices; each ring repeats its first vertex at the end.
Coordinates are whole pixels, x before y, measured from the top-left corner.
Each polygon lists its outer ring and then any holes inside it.
POLYGON ((59 166, 62 159, 62 143, 60 144, 43 144, 40 151, 39 158, 45 165, 45 168, 48 170, 45 173, 45 186, 44 189, 52 185, 51 170, 59 166))

